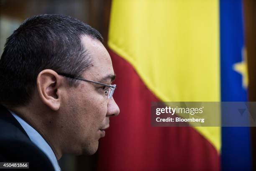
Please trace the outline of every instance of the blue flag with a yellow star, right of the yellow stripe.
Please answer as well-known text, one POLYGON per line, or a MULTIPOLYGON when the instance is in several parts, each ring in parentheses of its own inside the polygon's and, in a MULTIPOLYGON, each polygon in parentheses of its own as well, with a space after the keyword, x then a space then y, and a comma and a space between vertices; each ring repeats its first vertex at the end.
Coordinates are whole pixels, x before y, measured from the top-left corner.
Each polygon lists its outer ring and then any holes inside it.
MULTIPOLYGON (((246 53, 241 0, 220 0, 221 101, 247 101, 246 53)), ((251 148, 248 127, 223 127, 223 171, 250 171, 251 148)))

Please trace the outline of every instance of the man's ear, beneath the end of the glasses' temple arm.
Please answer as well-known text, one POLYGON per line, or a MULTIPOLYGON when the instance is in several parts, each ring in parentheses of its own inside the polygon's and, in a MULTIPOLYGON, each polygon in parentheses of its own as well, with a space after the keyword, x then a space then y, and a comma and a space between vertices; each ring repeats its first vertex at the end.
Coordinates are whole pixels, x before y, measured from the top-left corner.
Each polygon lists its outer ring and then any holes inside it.
POLYGON ((61 77, 55 71, 45 69, 38 74, 36 84, 42 102, 52 110, 59 110, 61 77))

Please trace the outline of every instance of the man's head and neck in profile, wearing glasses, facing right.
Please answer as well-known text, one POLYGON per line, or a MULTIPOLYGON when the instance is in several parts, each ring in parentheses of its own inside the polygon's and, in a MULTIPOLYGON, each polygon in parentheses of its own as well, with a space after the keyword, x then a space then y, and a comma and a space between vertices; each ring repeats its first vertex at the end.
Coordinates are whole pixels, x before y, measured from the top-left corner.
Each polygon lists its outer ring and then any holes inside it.
POLYGON ((38 15, 6 41, 0 103, 35 129, 57 160, 93 154, 109 118, 119 114, 114 79, 97 30, 68 16, 38 15))

